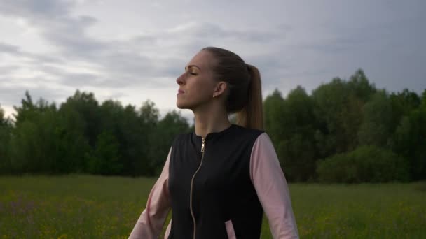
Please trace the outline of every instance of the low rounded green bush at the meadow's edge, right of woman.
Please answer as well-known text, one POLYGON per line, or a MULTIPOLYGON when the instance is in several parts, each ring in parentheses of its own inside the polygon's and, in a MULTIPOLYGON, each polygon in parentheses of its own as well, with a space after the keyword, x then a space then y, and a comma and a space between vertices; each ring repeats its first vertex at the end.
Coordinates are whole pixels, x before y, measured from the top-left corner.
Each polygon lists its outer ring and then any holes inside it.
POLYGON ((321 182, 406 182, 408 165, 404 158, 376 146, 361 146, 317 162, 321 182))

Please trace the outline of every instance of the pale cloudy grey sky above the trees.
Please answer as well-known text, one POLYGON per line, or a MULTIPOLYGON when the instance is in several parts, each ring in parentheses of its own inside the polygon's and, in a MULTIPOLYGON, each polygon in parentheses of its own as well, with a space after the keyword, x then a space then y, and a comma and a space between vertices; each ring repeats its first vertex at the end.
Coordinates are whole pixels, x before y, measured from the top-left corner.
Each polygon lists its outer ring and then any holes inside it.
POLYGON ((420 94, 425 11, 422 0, 0 0, 0 107, 11 116, 26 90, 59 105, 79 89, 165 115, 206 46, 259 68, 263 97, 310 94, 358 68, 377 88, 420 94))

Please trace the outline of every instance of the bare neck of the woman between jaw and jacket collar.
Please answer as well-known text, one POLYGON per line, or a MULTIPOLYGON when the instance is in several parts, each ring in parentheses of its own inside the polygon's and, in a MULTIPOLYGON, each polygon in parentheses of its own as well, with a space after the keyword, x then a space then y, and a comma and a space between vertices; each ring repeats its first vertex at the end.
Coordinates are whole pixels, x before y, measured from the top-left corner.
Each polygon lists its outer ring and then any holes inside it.
POLYGON ((205 138, 207 134, 220 132, 231 126, 228 114, 223 107, 209 107, 193 110, 195 117, 195 134, 205 138))

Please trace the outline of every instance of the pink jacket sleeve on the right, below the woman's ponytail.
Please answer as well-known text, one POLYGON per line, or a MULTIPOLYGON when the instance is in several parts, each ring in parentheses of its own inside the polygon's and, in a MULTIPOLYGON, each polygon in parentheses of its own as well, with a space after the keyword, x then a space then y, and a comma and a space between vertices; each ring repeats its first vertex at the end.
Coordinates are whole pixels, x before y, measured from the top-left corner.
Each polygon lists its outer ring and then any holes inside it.
POLYGON ((273 238, 298 238, 287 181, 266 133, 262 133, 253 145, 250 177, 268 217, 273 238))

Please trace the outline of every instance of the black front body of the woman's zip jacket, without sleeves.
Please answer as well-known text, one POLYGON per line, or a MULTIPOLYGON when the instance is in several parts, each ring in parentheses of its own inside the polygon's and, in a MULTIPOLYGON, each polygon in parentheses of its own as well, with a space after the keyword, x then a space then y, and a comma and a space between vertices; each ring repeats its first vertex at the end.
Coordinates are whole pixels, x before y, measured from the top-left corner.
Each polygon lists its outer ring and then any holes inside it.
POLYGON ((194 231, 195 238, 228 238, 225 222, 229 220, 237 238, 260 237, 263 210, 249 167, 252 147, 261 133, 235 124, 209 133, 204 156, 201 136, 186 133, 174 139, 168 181, 170 239, 193 238, 194 231))

